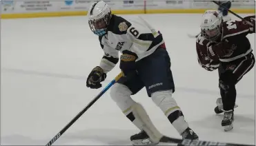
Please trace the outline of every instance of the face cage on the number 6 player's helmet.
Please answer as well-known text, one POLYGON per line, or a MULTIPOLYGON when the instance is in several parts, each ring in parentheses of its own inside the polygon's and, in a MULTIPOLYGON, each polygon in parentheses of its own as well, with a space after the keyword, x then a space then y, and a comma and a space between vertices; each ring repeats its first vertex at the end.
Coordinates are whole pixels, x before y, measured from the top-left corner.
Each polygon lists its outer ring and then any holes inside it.
POLYGON ((108 24, 110 22, 110 12, 101 19, 89 20, 90 30, 98 36, 104 36, 107 33, 108 24))

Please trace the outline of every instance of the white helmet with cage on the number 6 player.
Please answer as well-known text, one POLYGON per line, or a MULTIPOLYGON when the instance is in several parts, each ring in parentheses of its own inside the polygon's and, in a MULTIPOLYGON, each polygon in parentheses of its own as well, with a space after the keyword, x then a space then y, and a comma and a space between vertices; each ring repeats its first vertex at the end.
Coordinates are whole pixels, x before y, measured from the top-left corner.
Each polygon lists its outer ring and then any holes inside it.
POLYGON ((90 30, 98 36, 104 36, 111 19, 111 10, 108 4, 104 1, 92 3, 87 16, 90 30))

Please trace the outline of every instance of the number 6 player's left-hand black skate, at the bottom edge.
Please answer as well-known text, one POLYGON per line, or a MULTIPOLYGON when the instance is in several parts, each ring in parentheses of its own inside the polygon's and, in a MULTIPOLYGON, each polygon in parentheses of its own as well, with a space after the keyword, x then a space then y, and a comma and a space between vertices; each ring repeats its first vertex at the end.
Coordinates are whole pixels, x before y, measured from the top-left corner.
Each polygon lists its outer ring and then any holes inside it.
POLYGON ((150 138, 146 132, 141 131, 139 134, 134 134, 130 136, 130 140, 132 141, 132 145, 157 145, 158 143, 152 143, 150 138))

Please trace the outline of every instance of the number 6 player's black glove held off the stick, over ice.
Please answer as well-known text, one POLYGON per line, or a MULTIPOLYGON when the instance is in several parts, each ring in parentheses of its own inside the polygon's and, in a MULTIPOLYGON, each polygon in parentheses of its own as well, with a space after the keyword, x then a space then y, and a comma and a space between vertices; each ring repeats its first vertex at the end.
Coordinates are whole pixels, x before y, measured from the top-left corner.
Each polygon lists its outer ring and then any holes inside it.
POLYGON ((104 81, 106 77, 107 74, 104 73, 104 70, 97 66, 92 69, 92 72, 90 72, 86 81, 86 86, 91 89, 98 89, 102 87, 101 82, 104 81))

